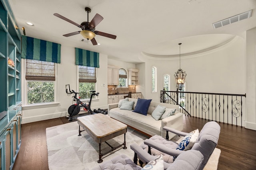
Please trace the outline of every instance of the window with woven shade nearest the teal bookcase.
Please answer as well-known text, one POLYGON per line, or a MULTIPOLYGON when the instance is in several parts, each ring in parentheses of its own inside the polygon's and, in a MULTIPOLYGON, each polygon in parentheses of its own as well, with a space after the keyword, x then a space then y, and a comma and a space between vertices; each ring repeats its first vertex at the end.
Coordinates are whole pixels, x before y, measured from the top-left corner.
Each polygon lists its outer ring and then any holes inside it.
POLYGON ((55 102, 55 63, 26 59, 26 104, 55 102))

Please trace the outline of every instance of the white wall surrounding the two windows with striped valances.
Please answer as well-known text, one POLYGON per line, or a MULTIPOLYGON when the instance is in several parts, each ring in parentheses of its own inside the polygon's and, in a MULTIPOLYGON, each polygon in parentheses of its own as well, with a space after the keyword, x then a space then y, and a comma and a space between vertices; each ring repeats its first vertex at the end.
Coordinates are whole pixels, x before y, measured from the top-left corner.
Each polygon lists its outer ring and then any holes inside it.
MULTIPOLYGON (((24 61, 22 61, 25 63, 24 61)), ((100 68, 97 68, 97 83, 96 91, 99 92, 98 100, 92 102, 92 109, 106 109, 107 108, 107 95, 108 95, 108 82, 107 82, 107 55, 100 54, 100 68)), ((24 98, 25 87, 25 70, 22 70, 22 94, 24 98)), ((67 109, 72 104, 72 97, 68 96, 65 92, 65 85, 70 84, 70 88, 78 91, 78 77, 77 66, 75 65, 75 49, 62 45, 61 47, 61 63, 58 64, 58 75, 56 76, 56 97, 58 104, 29 107, 22 106, 22 123, 30 123, 34 121, 41 121, 46 119, 53 119, 68 115, 67 109)), ((24 101, 24 99, 23 99, 24 101)))

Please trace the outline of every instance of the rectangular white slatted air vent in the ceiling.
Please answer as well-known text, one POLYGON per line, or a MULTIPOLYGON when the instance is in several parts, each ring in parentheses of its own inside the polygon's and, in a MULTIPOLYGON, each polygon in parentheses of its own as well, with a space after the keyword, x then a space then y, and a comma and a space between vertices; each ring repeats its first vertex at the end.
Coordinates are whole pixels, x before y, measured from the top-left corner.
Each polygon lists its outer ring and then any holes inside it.
POLYGON ((232 16, 230 18, 226 18, 224 20, 221 20, 221 21, 218 21, 218 22, 215 22, 215 23, 212 23, 212 26, 214 28, 223 27, 223 26, 228 25, 230 23, 234 23, 234 22, 237 22, 237 21, 244 20, 246 18, 250 18, 251 14, 252 14, 252 10, 244 12, 242 14, 238 14, 236 16, 232 16))

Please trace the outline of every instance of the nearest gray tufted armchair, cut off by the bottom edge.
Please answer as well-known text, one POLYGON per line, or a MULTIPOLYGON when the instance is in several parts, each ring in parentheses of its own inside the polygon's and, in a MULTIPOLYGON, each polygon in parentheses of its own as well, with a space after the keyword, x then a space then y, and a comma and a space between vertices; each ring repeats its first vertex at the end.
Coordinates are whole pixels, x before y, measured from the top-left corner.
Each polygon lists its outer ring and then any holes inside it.
MULTIPOLYGON (((146 153, 147 154, 147 153, 146 153)), ((148 154, 149 155, 149 154, 148 154)), ((155 156, 146 157, 147 162, 154 160, 155 156), (147 159, 148 158, 148 159, 147 159)), ((180 154, 173 164, 167 164, 167 170, 198 170, 204 160, 204 156, 197 150, 188 150, 180 154)), ((134 164, 126 155, 116 156, 110 161, 104 162, 92 170, 141 170, 142 167, 134 164)))

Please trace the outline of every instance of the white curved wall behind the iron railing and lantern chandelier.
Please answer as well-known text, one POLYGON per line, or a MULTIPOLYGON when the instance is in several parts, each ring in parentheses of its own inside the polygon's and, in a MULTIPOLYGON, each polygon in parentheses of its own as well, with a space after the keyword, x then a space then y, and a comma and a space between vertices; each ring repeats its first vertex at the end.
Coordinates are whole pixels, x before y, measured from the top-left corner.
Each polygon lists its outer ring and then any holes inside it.
MULTIPOLYGON (((245 94, 245 43, 241 37, 210 52, 200 55, 182 56, 181 68, 186 71, 186 91, 245 94)), ((179 68, 179 58, 154 60, 141 56, 145 62, 145 77, 140 82, 145 85, 145 98, 160 101, 160 90, 163 89, 163 76, 170 74, 171 90, 176 90, 174 72, 179 68), (151 92, 151 67, 157 67, 157 93, 151 92)), ((141 67, 141 64, 138 64, 141 67)), ((143 68, 144 66, 142 66, 143 68)))

